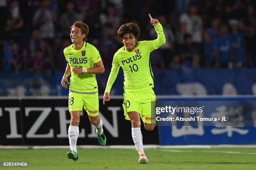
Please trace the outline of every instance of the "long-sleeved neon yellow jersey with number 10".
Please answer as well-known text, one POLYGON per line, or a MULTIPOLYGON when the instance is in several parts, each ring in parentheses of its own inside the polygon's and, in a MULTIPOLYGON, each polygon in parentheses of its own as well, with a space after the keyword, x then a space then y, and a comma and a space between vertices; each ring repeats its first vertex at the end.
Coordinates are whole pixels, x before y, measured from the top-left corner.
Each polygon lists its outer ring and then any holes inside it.
POLYGON ((133 51, 128 52, 125 47, 122 47, 115 53, 105 92, 110 92, 120 67, 123 69, 125 92, 142 91, 154 87, 150 54, 165 43, 164 31, 160 23, 155 26, 155 30, 156 40, 139 41, 133 51))

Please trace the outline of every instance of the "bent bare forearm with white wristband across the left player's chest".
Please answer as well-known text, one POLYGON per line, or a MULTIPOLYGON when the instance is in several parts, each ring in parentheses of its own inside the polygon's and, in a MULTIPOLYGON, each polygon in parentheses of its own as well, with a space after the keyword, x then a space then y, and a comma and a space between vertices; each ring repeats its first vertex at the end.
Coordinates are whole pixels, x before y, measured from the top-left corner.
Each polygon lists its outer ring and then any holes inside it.
MULTIPOLYGON (((72 72, 74 72, 74 74, 81 74, 83 73, 83 68, 80 67, 73 67, 72 68, 72 72)), ((95 67, 93 68, 87 68, 87 71, 85 71, 87 73, 91 73, 91 74, 101 74, 105 72, 105 68, 103 65, 102 60, 100 60, 99 62, 95 63, 95 67)))

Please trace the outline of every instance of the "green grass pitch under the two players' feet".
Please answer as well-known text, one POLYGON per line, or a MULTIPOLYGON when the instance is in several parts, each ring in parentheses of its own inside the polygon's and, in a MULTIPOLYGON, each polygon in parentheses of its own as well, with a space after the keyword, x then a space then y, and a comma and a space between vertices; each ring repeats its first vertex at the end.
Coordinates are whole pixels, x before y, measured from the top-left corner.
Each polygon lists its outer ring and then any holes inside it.
POLYGON ((145 149, 149 163, 140 165, 135 149, 1 149, 0 162, 26 161, 28 168, 8 170, 255 170, 256 148, 145 149))

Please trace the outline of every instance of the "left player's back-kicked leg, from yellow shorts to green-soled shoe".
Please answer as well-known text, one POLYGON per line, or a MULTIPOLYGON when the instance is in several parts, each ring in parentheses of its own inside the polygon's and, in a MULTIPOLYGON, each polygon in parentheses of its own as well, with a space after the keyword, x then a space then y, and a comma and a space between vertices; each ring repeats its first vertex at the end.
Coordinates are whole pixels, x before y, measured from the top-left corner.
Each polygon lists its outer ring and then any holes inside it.
POLYGON ((107 138, 103 132, 103 122, 99 115, 99 95, 86 95, 84 99, 84 110, 87 111, 92 125, 94 125, 100 145, 105 146, 107 138))

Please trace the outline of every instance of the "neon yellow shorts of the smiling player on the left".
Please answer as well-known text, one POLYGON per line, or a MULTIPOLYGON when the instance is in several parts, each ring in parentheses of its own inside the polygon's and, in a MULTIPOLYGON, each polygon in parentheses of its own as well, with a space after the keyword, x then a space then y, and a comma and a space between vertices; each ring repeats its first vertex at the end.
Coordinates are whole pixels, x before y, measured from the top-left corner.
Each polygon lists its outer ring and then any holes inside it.
POLYGON ((99 94, 80 94, 69 92, 69 112, 82 111, 82 108, 87 111, 90 116, 99 115, 99 94))

